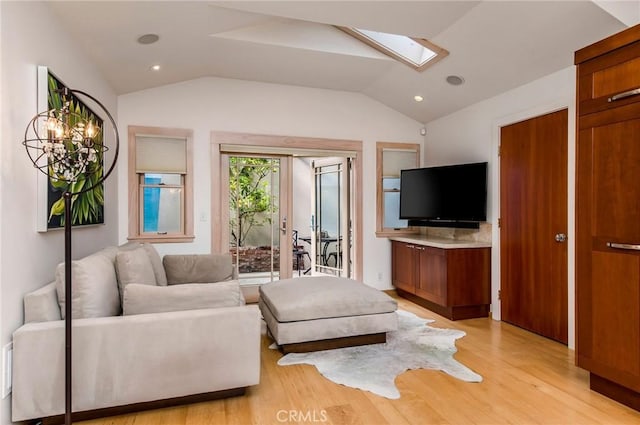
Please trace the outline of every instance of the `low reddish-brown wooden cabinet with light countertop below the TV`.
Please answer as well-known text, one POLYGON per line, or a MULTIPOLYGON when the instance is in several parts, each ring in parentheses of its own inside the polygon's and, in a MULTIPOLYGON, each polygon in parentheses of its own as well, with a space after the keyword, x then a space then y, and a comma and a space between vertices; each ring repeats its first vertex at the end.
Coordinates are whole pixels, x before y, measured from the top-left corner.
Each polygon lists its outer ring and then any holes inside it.
POLYGON ((392 283, 401 297, 450 320, 489 315, 489 243, 397 237, 391 253, 392 283))

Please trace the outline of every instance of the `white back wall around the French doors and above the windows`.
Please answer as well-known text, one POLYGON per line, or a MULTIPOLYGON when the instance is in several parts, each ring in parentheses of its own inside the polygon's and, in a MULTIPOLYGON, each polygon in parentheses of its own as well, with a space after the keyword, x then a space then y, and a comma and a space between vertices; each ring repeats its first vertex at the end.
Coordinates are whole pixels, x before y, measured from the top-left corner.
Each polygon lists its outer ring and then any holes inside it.
MULTIPOLYGON (((195 241, 158 244, 162 254, 210 252, 210 133, 246 132, 363 142, 364 281, 391 288, 390 244, 375 237, 375 143, 422 143, 422 124, 356 93, 201 78, 118 98, 119 127, 190 128, 194 131, 195 241), (201 221, 201 216, 207 217, 201 221), (378 273, 381 279, 378 280, 378 273)), ((126 164, 126 152, 121 164, 126 164)), ((127 175, 119 174, 121 202, 127 202, 127 175)), ((120 209, 120 241, 127 237, 127 208, 120 209)))

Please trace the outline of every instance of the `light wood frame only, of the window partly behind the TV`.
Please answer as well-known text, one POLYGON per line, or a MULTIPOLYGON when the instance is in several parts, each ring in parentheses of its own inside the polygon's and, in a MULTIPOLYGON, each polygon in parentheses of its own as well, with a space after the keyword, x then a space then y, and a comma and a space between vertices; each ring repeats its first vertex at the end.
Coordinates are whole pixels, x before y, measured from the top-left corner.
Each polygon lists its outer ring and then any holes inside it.
POLYGON ((418 143, 393 143, 376 142, 376 237, 389 237, 397 235, 412 235, 419 233, 416 227, 392 228, 384 227, 384 194, 383 189, 383 164, 386 151, 414 151, 416 154, 415 167, 420 167, 420 144, 418 143))

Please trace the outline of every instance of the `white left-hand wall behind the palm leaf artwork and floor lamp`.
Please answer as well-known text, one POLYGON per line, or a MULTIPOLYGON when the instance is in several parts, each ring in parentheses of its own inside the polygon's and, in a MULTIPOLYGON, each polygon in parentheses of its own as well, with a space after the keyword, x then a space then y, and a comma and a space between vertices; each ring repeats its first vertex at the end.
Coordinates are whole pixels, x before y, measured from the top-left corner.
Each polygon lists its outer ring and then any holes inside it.
MULTIPOLYGON (((0 102, 0 345, 23 322, 23 295, 51 281, 64 259, 61 231, 36 232, 36 176, 21 142, 37 112, 38 65, 72 88, 100 99, 115 114, 116 96, 75 41, 56 25, 41 2, 0 2, 2 84, 0 102)), ((117 242, 118 194, 115 177, 106 183, 106 225, 73 232, 74 257, 117 242)), ((10 421, 10 398, 0 403, 0 423, 10 421)))

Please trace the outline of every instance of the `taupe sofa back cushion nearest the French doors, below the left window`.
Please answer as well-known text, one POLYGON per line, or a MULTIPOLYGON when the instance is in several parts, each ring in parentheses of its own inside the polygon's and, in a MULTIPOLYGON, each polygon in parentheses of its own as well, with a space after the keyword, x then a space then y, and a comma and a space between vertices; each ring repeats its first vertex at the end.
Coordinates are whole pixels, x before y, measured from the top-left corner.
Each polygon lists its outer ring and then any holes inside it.
POLYGON ((169 285, 233 279, 231 254, 165 255, 162 264, 169 285))

